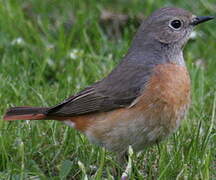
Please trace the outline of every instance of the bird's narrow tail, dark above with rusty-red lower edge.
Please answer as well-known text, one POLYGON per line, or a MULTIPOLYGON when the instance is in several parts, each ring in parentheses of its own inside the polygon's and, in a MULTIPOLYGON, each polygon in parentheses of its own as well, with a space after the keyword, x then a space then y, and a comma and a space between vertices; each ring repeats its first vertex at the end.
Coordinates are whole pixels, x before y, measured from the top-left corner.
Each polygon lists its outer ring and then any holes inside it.
POLYGON ((40 120, 46 119, 45 112, 48 108, 44 107, 12 107, 5 116, 4 120, 40 120))

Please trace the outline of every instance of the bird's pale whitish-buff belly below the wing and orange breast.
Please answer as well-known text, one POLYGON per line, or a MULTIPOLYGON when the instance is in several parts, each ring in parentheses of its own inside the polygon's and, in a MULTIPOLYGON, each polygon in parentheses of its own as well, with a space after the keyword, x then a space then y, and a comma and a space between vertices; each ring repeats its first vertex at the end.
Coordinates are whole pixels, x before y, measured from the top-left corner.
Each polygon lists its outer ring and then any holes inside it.
POLYGON ((105 146, 114 152, 125 152, 131 145, 135 151, 159 142, 172 133, 180 124, 187 107, 173 113, 167 113, 168 107, 159 113, 152 114, 155 107, 149 112, 124 109, 112 112, 109 116, 95 121, 86 131, 89 139, 99 145, 105 146))

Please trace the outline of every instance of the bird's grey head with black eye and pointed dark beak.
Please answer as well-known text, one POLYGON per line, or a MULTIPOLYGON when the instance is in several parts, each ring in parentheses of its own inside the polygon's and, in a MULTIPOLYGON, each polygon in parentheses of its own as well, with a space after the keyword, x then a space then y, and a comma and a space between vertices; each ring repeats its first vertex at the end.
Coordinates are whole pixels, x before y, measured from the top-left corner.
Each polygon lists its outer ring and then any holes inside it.
POLYGON ((195 16, 181 8, 161 8, 141 24, 129 50, 129 59, 154 64, 184 64, 182 48, 194 27, 213 18, 195 16), (140 59, 141 57, 147 58, 140 59))

